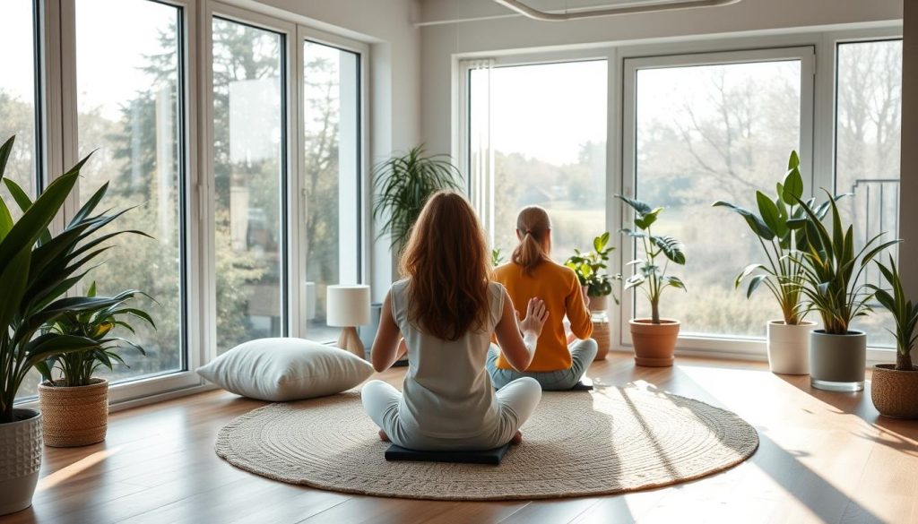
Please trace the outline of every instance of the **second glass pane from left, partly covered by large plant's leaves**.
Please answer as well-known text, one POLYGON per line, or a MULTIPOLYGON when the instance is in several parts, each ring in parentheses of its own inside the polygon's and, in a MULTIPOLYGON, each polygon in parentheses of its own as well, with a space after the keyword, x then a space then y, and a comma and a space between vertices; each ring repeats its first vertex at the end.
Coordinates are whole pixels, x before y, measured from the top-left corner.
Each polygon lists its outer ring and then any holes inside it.
POLYGON ((180 32, 181 13, 174 6, 76 1, 79 155, 95 151, 82 172, 80 203, 108 183, 100 208, 133 207, 108 230, 140 229, 153 237, 116 237, 106 262, 88 276, 100 295, 138 289, 154 299, 139 297, 133 304, 150 313, 156 329, 131 320, 137 334, 119 333, 137 341, 147 356, 123 351, 129 367, 116 364, 114 372, 97 373, 111 380, 185 366, 180 32))

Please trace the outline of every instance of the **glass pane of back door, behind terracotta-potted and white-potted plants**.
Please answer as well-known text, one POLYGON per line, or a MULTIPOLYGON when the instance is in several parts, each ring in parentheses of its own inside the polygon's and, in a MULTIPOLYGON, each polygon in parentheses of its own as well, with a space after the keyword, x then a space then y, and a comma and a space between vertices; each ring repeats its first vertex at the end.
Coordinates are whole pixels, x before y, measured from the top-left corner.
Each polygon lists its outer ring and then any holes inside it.
MULTIPOLYGON (((666 207, 654 233, 682 240, 688 261, 669 273, 689 292, 668 288, 660 315, 683 334, 764 337, 777 303, 765 289, 746 300, 733 277, 765 255, 742 218, 711 203, 756 208, 756 189, 775 192, 800 148, 800 61, 641 70, 636 96, 637 196, 666 207)), ((650 317, 635 298, 636 317, 650 317)))

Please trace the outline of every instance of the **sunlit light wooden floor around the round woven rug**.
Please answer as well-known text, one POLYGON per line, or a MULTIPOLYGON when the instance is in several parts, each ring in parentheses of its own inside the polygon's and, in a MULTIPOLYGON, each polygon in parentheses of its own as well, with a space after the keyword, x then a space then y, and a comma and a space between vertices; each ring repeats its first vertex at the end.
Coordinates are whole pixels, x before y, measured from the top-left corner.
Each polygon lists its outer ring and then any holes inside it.
MULTIPOLYGON (((384 377, 397 384, 401 373, 384 377)), ((623 353, 594 363, 588 376, 731 409, 758 429, 761 446, 722 474, 625 496, 506 503, 351 496, 224 463, 213 451, 218 429, 263 403, 210 392, 113 414, 105 443, 46 448, 33 506, 0 522, 918 522, 918 421, 879 418, 868 392, 812 391, 808 377, 751 362, 636 368, 623 353)))

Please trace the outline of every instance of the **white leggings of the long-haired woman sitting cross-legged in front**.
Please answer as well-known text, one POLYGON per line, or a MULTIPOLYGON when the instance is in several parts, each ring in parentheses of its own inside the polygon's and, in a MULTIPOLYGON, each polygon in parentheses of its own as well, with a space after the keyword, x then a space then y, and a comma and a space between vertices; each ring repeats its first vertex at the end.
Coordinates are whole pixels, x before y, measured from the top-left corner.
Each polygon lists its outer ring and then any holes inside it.
POLYGON ((373 380, 366 383, 361 391, 366 414, 373 418, 376 426, 386 431, 389 440, 409 450, 431 452, 491 450, 506 444, 539 405, 542 386, 534 379, 524 377, 500 388, 495 396, 498 402, 498 425, 493 432, 471 439, 442 439, 402 427, 398 419, 402 394, 391 385, 373 380))

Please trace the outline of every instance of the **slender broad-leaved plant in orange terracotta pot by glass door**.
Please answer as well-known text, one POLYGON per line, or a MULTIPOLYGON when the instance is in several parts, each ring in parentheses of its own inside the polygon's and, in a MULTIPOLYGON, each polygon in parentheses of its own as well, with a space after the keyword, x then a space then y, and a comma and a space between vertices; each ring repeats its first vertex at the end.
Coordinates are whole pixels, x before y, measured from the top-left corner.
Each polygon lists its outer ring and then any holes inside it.
MULTIPOLYGON (((669 262, 684 265, 686 255, 682 242, 666 235, 655 235, 651 226, 663 207, 651 207, 640 200, 616 195, 634 210, 635 229, 621 232, 635 240, 644 251, 644 258, 635 258, 628 265, 635 273, 625 280, 624 290, 640 289, 650 302, 651 318, 633 318, 630 322, 634 344, 634 362, 644 366, 671 366, 679 336, 679 321, 660 318, 660 296, 667 287, 686 290, 678 277, 666 274, 669 262), (662 259, 662 261, 661 261, 662 259), (662 267, 661 267, 662 262, 662 267)), ((620 278, 623 276, 619 275, 620 278)))

